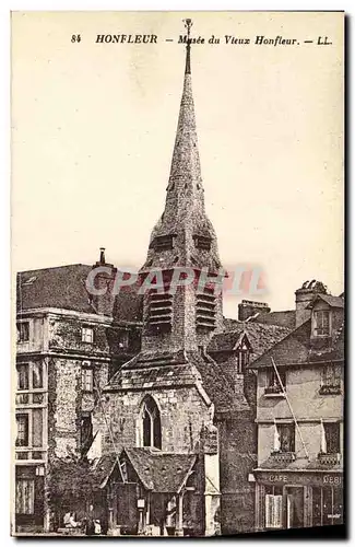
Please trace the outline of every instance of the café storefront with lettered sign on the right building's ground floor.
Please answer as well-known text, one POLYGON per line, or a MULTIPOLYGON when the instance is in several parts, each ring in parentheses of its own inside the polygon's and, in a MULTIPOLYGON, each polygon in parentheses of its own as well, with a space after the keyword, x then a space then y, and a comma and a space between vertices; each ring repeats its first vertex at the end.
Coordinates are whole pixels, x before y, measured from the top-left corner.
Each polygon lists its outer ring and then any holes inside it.
POLYGON ((340 472, 256 470, 258 531, 343 524, 340 472))

